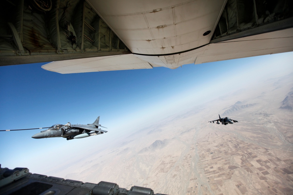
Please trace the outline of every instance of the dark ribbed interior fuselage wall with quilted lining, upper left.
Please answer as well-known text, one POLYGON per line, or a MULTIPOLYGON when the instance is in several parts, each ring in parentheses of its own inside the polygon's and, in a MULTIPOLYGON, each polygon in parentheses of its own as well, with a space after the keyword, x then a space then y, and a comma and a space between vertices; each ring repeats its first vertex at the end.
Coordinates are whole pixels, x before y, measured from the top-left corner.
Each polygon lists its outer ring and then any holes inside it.
POLYGON ((0 65, 131 53, 84 0, 4 0, 0 16, 0 65))

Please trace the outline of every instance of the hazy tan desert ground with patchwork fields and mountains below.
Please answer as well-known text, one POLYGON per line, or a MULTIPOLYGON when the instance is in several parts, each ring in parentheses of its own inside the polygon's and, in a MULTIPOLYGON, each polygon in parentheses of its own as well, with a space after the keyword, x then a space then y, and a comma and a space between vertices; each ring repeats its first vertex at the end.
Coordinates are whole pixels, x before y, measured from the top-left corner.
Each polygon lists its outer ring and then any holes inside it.
POLYGON ((293 194, 292 94, 292 73, 235 89, 150 122, 50 175, 162 194, 293 194), (239 122, 208 123, 219 114, 239 122))

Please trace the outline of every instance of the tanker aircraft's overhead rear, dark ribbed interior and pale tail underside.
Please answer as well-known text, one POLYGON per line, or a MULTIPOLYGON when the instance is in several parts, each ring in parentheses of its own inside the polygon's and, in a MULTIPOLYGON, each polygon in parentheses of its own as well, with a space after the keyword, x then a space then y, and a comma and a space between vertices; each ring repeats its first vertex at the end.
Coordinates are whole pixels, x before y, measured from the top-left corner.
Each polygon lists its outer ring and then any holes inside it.
POLYGON ((62 74, 293 51, 292 1, 10 0, 0 15, 0 65, 62 74))

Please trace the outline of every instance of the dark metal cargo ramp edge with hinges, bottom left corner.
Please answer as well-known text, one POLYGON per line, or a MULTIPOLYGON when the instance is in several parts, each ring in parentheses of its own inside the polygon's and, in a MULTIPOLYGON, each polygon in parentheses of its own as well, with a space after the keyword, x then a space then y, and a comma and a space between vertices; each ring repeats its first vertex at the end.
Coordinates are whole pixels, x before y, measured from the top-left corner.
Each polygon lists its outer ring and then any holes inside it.
MULTIPOLYGON (((1 168, 1 165, 0 165, 1 168)), ((130 190, 110 182, 98 184, 64 180, 59 177, 32 174, 28 168, 1 168, 0 195, 163 195, 150 188, 133 186, 130 190)))

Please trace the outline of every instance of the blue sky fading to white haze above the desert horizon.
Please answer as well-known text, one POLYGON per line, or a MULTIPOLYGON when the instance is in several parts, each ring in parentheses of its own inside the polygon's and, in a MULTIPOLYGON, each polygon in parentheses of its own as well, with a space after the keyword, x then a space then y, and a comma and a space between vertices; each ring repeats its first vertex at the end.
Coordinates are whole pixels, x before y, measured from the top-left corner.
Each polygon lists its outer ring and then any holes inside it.
POLYGON ((0 132, 0 163, 42 173, 42 165, 52 159, 65 160, 75 152, 106 147, 105 143, 120 135, 229 90, 255 84, 262 77, 289 74, 292 60, 290 52, 183 65, 175 70, 161 67, 65 75, 43 70, 45 63, 2 66, 1 130, 87 124, 100 116, 100 124, 109 132, 70 141, 31 138, 40 130, 0 132))

